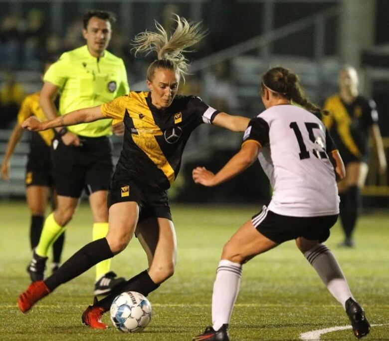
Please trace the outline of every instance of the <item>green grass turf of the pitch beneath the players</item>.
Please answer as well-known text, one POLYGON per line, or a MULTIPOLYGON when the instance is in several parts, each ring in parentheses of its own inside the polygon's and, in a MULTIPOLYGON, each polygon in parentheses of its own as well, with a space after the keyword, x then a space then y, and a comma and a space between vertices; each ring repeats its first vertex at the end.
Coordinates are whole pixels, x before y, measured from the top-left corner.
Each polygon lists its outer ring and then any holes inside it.
MULTIPOLYGON (((153 318, 140 334, 122 334, 110 327, 96 331, 81 325, 81 314, 92 303, 94 271, 59 287, 23 315, 17 295, 28 285, 29 213, 23 202, 0 202, 0 340, 191 340, 210 324, 212 285, 223 243, 244 221, 259 211, 251 206, 199 207, 172 205, 178 237, 175 275, 149 299, 153 318)), ((366 340, 389 340, 389 212, 365 214, 359 221, 355 249, 336 247, 342 234, 332 229, 327 245, 334 251, 352 292, 375 327, 366 340)), ((91 238, 91 213, 81 204, 66 234, 64 259, 91 238)), ((112 262, 122 276, 147 267, 134 239, 112 262)), ((106 314, 103 321, 110 324, 106 314)), ((243 267, 240 294, 230 334, 234 341, 299 340, 312 330, 348 325, 341 306, 315 271, 287 242, 243 267)), ((321 340, 354 340, 350 330, 332 332, 321 340)))

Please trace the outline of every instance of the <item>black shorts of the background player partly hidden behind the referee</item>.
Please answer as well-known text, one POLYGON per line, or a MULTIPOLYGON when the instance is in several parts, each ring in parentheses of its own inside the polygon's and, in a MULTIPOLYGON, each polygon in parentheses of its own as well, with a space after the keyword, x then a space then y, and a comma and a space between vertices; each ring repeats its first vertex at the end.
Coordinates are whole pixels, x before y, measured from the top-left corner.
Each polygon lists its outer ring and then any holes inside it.
POLYGON ((39 146, 37 148, 33 144, 30 144, 24 182, 27 187, 53 187, 54 178, 49 146, 39 146))

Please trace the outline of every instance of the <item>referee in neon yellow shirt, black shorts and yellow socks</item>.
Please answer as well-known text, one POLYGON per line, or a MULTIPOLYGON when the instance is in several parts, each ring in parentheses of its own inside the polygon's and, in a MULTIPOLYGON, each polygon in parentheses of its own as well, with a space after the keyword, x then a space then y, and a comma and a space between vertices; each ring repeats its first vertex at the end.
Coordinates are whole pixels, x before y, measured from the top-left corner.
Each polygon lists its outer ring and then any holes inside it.
MULTIPOLYGON (((110 12, 89 11, 82 31, 86 45, 65 52, 44 75, 39 103, 48 119, 94 106, 128 93, 127 73, 121 58, 106 50, 111 39, 110 12), (60 94, 57 112, 53 101, 60 94)), ((112 120, 56 129, 53 166, 58 206, 43 227, 29 267, 32 282, 43 279, 47 250, 72 218, 83 190, 93 215, 93 240, 108 231, 107 191, 112 175, 112 120)), ((94 294, 107 294, 123 281, 110 272, 110 260, 96 266, 94 294)))

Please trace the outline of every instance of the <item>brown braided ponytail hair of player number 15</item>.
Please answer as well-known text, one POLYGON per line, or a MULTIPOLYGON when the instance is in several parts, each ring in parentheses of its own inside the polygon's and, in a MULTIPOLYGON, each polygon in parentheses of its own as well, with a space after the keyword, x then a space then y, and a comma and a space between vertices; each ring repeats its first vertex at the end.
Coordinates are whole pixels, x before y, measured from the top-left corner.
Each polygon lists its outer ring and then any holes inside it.
POLYGON ((283 96, 315 115, 328 115, 328 111, 319 108, 308 99, 299 77, 284 67, 273 67, 268 70, 262 76, 262 91, 263 87, 267 87, 276 96, 283 96))

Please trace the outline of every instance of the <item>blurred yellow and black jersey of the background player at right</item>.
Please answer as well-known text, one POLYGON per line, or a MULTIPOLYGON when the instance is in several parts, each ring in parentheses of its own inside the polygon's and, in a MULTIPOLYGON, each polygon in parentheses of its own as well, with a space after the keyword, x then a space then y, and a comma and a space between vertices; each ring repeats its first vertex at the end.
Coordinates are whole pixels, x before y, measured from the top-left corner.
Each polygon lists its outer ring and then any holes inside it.
POLYGON ((358 96, 351 104, 346 104, 339 95, 329 97, 324 109, 330 115, 323 122, 345 162, 365 160, 368 155, 369 128, 378 122, 374 100, 358 96))

